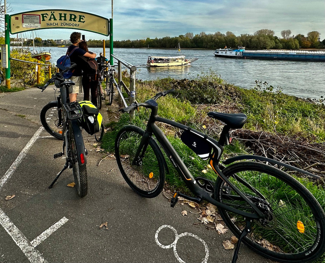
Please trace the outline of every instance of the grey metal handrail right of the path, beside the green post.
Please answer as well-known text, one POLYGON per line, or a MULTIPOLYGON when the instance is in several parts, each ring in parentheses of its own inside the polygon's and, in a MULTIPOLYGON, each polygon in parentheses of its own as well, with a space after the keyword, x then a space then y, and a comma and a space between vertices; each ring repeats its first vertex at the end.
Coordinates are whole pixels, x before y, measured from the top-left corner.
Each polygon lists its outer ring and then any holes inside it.
MULTIPOLYGON (((133 66, 131 63, 126 62, 122 58, 119 58, 113 54, 111 56, 117 60, 117 75, 118 75, 118 82, 114 81, 115 87, 118 91, 118 102, 119 105, 124 105, 124 107, 128 107, 132 103, 136 102, 136 66, 133 66), (125 83, 122 80, 122 65, 127 67, 130 70, 130 87, 128 88, 125 83), (121 90, 121 87, 123 87, 126 95, 128 97, 124 97, 123 92, 121 90), (129 105, 126 101, 129 101, 129 105)), ((130 120, 134 119, 134 110, 130 111, 130 120)))

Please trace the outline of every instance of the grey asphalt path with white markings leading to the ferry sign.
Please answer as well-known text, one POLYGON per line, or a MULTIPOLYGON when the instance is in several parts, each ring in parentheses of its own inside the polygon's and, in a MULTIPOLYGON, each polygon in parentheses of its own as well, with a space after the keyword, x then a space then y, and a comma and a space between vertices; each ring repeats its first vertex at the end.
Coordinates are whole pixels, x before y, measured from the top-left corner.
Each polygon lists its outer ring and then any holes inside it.
MULTIPOLYGON (((116 161, 103 159, 87 137, 88 195, 79 198, 67 186, 74 181, 72 169, 48 189, 65 160, 53 159, 62 141, 50 137, 38 120, 41 108, 54 99, 53 91, 43 95, 35 88, 0 94, 1 263, 231 262, 234 250, 222 245, 230 231, 218 235, 195 224, 200 222, 196 210, 187 204, 171 208, 163 194, 139 197, 116 161)), ((104 109, 104 120, 109 114, 104 109)), ((237 262, 272 261, 242 245, 237 262)))

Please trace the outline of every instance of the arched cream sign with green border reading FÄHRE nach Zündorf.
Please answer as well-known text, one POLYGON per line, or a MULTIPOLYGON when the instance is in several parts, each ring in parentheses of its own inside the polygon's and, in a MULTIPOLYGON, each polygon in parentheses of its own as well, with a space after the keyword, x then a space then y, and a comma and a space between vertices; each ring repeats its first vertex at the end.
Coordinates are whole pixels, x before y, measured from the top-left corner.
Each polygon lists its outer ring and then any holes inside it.
POLYGON ((10 33, 48 28, 70 28, 109 35, 109 20, 72 10, 36 10, 10 15, 10 33))

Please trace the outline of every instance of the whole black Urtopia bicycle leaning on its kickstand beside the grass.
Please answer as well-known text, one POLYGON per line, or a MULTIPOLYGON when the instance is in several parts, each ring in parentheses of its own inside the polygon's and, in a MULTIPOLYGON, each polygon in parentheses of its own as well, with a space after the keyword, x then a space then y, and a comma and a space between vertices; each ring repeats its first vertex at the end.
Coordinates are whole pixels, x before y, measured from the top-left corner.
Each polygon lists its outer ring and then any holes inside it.
POLYGON ((157 93, 144 103, 121 110, 128 112, 137 107, 151 110, 145 131, 127 125, 118 132, 115 140, 116 161, 128 185, 143 197, 156 197, 162 191, 168 166, 157 140, 194 195, 175 192, 171 207, 175 206, 179 196, 197 203, 205 200, 216 205, 228 228, 239 238, 233 263, 237 261, 241 242, 258 254, 280 262, 307 262, 321 256, 325 251, 325 214, 318 201, 292 176, 262 162, 318 176, 256 155, 235 156, 221 164, 224 146, 229 144, 230 129, 241 128, 247 116, 243 113, 209 112, 209 117, 225 124, 216 141, 157 115, 156 100, 172 91, 157 93), (181 140, 202 159, 209 160, 217 175, 216 181, 194 178, 156 122, 182 130, 181 140))

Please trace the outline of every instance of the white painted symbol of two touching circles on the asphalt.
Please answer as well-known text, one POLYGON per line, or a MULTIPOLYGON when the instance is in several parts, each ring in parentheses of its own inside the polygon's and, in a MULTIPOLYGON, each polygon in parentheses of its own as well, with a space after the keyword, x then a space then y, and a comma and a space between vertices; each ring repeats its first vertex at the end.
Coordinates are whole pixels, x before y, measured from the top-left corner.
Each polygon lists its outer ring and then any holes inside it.
POLYGON ((177 258, 177 260, 181 263, 186 263, 183 259, 180 258, 180 256, 178 256, 177 254, 177 250, 176 250, 176 244, 177 244, 177 241, 181 238, 181 237, 184 237, 184 236, 190 236, 190 237, 194 237, 196 238, 197 240, 201 241, 202 244, 204 245, 204 250, 205 250, 205 257, 203 258, 202 262, 201 263, 206 263, 208 261, 208 257, 209 257, 209 249, 208 249, 208 246, 207 244, 205 243, 205 241, 201 238, 199 238, 197 235, 194 235, 192 233, 188 233, 188 232, 184 232, 184 233, 181 233, 181 234, 177 234, 177 231, 176 229, 173 227, 173 226, 169 226, 169 225, 163 225, 161 227, 158 228, 158 230, 156 231, 156 234, 155 234, 155 241, 157 243, 158 246, 160 246, 161 248, 172 248, 173 247, 173 250, 174 250, 174 255, 175 257, 177 258), (175 240, 173 243, 171 243, 170 245, 163 245, 161 244, 159 241, 158 241, 158 233, 160 232, 160 230, 162 230, 163 228, 170 228, 174 231, 174 234, 175 234, 175 240))

